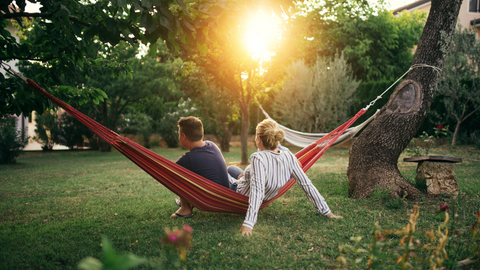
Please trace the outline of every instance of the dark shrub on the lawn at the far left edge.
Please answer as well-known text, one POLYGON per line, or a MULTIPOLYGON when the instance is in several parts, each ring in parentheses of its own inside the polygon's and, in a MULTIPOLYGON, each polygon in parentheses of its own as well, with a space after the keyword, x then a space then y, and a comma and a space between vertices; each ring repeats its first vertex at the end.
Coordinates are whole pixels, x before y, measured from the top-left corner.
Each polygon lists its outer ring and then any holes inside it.
POLYGON ((22 140, 21 132, 16 128, 17 117, 0 118, 0 164, 13 164, 20 155, 27 140, 22 140))

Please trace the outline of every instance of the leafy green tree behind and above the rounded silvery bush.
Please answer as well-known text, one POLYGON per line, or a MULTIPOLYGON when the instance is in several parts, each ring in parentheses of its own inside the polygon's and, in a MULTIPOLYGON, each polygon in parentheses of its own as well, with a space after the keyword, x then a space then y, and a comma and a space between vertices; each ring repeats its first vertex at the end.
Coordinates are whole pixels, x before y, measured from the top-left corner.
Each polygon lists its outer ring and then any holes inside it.
POLYGON ((425 12, 394 16, 382 2, 314 0, 299 3, 287 25, 288 55, 313 64, 343 52, 358 80, 390 80, 410 67, 425 12))

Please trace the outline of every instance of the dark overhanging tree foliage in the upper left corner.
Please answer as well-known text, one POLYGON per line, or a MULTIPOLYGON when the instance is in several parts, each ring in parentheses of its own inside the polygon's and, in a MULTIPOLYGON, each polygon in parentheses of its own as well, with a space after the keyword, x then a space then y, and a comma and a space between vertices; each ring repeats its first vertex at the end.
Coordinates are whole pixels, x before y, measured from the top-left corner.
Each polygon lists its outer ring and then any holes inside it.
MULTIPOLYGON (((191 36, 197 27, 183 0, 31 2, 42 5, 39 12, 25 12, 25 0, 0 3, 0 62, 39 61, 49 68, 43 75, 52 78, 52 85, 61 85, 64 79, 81 80, 105 68, 128 72, 127 67, 113 60, 106 66, 98 64, 98 40, 111 47, 122 40, 130 44, 141 42, 152 45, 152 51, 156 51, 156 41, 161 39, 174 50, 178 49, 175 36, 191 36), (22 25, 23 18, 35 19, 35 29, 27 39, 18 41, 6 27, 10 20, 22 25)), ((208 10, 210 2, 214 1, 202 2, 203 9, 208 10)), ((49 85, 44 86, 48 88, 49 85)), ((49 105, 45 98, 23 88, 15 79, 0 75, 0 87, 0 114, 42 111, 49 105)), ((93 98, 101 96, 102 93, 97 93, 93 98)))

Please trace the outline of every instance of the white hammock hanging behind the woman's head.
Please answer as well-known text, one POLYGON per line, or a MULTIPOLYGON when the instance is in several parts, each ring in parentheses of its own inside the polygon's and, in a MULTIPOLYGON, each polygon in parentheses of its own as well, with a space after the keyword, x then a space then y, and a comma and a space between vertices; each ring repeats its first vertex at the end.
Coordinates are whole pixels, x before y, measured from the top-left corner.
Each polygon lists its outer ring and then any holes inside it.
MULTIPOLYGON (((268 119, 270 119, 272 121, 275 121, 275 119, 271 118, 270 115, 268 115, 268 113, 263 109, 262 105, 260 105, 260 103, 258 101, 257 101, 257 103, 258 103, 258 106, 259 106, 260 110, 262 110, 263 114, 265 115, 265 117, 267 117, 268 119)), ((342 143, 350 140, 351 138, 353 138, 360 130, 362 130, 362 128, 364 128, 368 123, 370 123, 370 121, 372 121, 375 118, 375 116, 377 115, 378 112, 379 112, 379 110, 377 110, 377 112, 374 115, 370 116, 370 118, 365 120, 360 125, 355 126, 355 127, 347 128, 345 130, 345 132, 340 137, 338 137, 338 139, 335 140, 335 142, 332 145, 339 145, 339 144, 342 144, 342 143)), ((285 132, 285 140, 287 142, 295 145, 295 146, 298 146, 298 147, 307 147, 310 144, 315 143, 318 139, 320 139, 324 136, 327 136, 329 134, 329 133, 300 132, 300 131, 296 131, 296 130, 287 128, 286 126, 281 125, 277 121, 275 121, 275 122, 285 132)))

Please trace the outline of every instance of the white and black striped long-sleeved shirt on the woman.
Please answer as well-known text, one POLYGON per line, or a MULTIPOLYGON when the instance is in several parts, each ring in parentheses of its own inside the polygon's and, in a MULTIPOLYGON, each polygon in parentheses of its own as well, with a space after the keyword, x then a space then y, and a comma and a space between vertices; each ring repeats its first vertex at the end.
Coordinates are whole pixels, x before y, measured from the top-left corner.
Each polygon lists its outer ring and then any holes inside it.
POLYGON ((275 197, 278 190, 292 177, 302 187, 319 213, 323 215, 330 213, 325 199, 300 168, 297 158, 283 146, 279 146, 278 150, 280 153, 269 150, 253 153, 250 156, 251 164, 245 169, 245 175, 234 181, 237 184, 237 192, 250 197, 243 226, 253 229, 262 201, 275 197))

